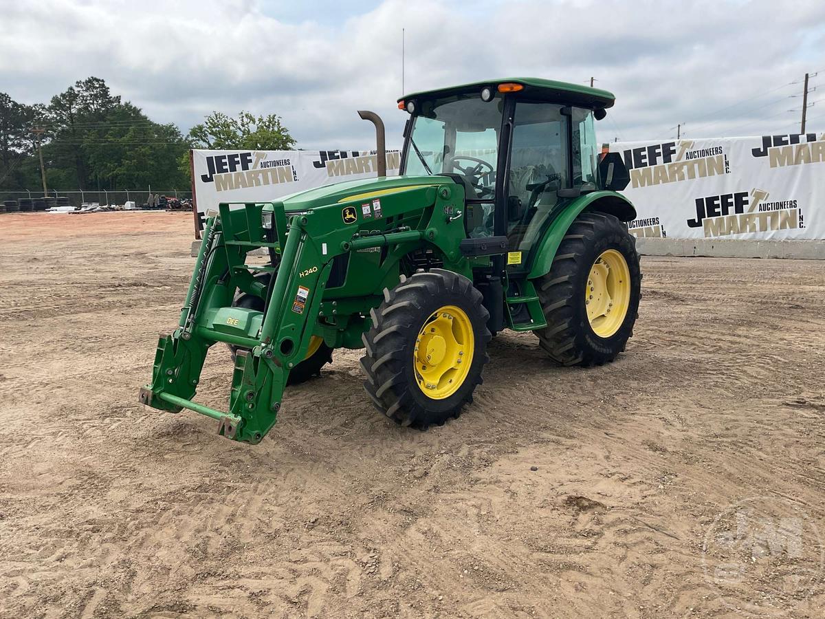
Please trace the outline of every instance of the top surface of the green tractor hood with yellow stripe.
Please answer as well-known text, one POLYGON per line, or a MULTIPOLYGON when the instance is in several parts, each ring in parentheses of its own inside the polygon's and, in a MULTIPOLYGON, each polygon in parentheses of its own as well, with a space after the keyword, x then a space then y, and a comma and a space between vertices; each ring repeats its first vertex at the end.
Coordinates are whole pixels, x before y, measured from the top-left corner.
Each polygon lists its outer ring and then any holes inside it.
POLYGON ((409 187, 422 185, 443 185, 454 183, 450 177, 443 176, 402 176, 364 178, 357 181, 337 182, 334 185, 324 185, 308 191, 300 191, 281 198, 284 209, 289 215, 295 212, 304 212, 318 206, 327 206, 337 202, 349 200, 368 200, 386 193, 401 191, 409 187))

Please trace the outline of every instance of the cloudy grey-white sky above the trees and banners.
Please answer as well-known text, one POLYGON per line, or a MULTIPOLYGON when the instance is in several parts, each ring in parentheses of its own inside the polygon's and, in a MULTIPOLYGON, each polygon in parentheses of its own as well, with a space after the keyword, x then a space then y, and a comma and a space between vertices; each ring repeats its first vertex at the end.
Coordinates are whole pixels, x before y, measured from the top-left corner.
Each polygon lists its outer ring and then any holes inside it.
POLYGON ((631 141, 799 131, 807 72, 825 130, 823 0, 0 0, 0 24, 16 101, 95 76, 183 131, 276 113, 304 149, 369 148, 359 109, 398 147, 403 92, 513 76, 595 78, 616 96, 599 139, 631 141))

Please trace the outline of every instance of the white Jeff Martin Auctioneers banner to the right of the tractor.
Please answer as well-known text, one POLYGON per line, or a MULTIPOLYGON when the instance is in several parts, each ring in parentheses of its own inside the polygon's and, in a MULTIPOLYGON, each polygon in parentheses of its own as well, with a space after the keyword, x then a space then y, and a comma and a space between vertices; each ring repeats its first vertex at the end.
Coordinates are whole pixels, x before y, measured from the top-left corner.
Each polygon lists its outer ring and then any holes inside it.
POLYGON ((637 237, 825 239, 825 134, 610 144, 637 237))

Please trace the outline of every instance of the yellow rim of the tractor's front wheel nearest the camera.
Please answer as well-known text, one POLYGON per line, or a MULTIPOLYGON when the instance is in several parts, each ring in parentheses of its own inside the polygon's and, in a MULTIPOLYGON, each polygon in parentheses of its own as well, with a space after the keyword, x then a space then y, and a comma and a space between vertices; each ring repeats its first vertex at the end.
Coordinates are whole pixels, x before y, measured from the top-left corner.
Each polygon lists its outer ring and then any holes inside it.
POLYGON ((432 399, 455 393, 473 363, 473 324, 464 309, 445 305, 430 314, 418 332, 413 364, 418 387, 432 399))

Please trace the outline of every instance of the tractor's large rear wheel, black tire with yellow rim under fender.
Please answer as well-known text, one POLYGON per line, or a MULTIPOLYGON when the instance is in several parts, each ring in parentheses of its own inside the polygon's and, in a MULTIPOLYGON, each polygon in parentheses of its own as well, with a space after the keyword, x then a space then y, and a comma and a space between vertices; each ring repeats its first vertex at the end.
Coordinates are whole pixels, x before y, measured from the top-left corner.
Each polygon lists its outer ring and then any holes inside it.
POLYGON ((641 281, 636 241, 625 224, 614 215, 582 213, 559 245, 550 272, 536 282, 548 325, 535 331, 540 347, 563 366, 601 366, 613 361, 633 335, 641 281), (605 304, 598 318, 587 313, 588 308, 594 313, 589 304, 599 300, 599 282, 592 281, 594 270, 596 275, 601 270, 614 277, 613 297, 606 299, 615 305, 605 304), (616 308, 624 312, 623 317, 616 317, 616 308))

